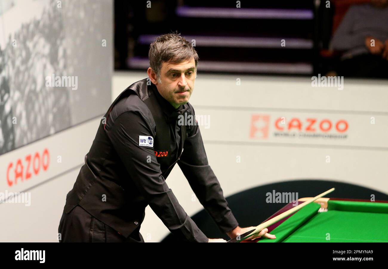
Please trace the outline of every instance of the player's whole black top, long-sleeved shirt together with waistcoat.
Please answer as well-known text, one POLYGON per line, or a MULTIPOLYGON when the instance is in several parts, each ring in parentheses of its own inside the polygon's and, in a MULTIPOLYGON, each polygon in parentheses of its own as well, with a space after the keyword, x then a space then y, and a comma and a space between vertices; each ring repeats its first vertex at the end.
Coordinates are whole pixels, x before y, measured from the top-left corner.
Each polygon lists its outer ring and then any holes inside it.
POLYGON ((141 224, 149 205, 178 238, 208 242, 165 181, 178 163, 220 230, 236 228, 236 218, 208 164, 198 125, 178 124, 179 115, 185 113, 194 116, 189 103, 175 109, 147 79, 129 86, 107 111, 65 210, 80 204, 128 236, 141 224), (105 203, 100 201, 104 194, 105 203))

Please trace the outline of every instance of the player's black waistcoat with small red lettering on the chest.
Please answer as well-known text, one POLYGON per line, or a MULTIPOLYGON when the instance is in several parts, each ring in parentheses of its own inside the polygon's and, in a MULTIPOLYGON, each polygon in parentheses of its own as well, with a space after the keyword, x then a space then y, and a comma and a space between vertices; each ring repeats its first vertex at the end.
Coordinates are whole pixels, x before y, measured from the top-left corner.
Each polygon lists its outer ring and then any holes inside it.
MULTIPOLYGON (((66 196, 64 207, 64 212, 68 213, 79 204, 95 218, 111 226, 125 237, 128 237, 144 220, 144 209, 147 202, 131 184, 131 175, 126 172, 123 164, 118 161, 117 154, 107 136, 106 132, 109 131, 109 124, 112 124, 112 118, 114 118, 113 115, 110 115, 114 105, 131 94, 136 94, 139 97, 139 99, 135 99, 138 102, 137 105, 140 104, 143 108, 142 113, 148 115, 148 120, 152 125, 154 152, 158 163, 161 165, 164 178, 167 178, 180 158, 187 131, 190 128, 185 125, 178 128, 178 130, 180 129, 180 143, 177 149, 171 152, 170 143, 172 137, 174 137, 172 131, 175 131, 175 125, 172 124, 173 127, 171 127, 169 122, 171 120, 177 123, 178 115, 191 113, 190 106, 185 104, 174 110, 160 96, 156 86, 150 82, 148 84, 147 79, 135 82, 126 88, 109 107, 103 117, 106 121, 103 120, 99 125, 92 147, 85 156, 85 164, 81 167, 73 189, 66 196), (166 151, 168 152, 167 156, 166 151), (163 154, 163 152, 165 153, 163 154), (108 166, 110 168, 109 173, 114 171, 117 174, 112 176, 111 173, 108 176, 108 166), (101 202, 103 194, 111 194, 114 199, 101 202)), ((121 110, 136 105, 125 102, 120 104, 123 107, 120 107, 118 111, 116 111, 117 109, 114 111, 120 113, 121 110)))

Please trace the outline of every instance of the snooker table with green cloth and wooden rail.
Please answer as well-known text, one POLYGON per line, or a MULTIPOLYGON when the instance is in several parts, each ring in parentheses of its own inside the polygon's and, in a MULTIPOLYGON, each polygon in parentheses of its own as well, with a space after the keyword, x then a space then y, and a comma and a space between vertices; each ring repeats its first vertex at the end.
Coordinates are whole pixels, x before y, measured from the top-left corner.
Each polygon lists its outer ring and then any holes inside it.
MULTIPOLYGON (((298 204, 309 198, 299 199, 298 204)), ((292 207, 293 203, 290 203, 268 219, 292 207)), ((268 226, 268 233, 276 235, 276 239, 260 238, 249 241, 388 242, 388 201, 322 197, 268 226)))

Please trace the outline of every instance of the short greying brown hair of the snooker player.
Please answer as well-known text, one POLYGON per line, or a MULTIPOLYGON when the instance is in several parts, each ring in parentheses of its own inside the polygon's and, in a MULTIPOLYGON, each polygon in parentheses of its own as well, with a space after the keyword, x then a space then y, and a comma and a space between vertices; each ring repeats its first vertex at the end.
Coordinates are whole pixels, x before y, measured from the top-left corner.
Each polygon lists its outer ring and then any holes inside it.
POLYGON ((149 66, 154 70, 161 83, 160 72, 163 62, 180 63, 194 58, 197 74, 198 54, 194 47, 177 32, 158 36, 151 44, 148 52, 149 66))

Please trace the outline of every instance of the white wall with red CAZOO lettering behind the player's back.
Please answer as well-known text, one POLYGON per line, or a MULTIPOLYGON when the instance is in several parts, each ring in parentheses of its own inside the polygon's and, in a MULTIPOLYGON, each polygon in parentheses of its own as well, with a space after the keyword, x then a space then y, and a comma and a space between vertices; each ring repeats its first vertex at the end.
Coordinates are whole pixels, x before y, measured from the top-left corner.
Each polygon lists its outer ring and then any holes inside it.
MULTIPOLYGON (((0 242, 58 242, 58 225, 66 194, 73 187, 85 154, 92 146, 99 122, 100 117, 0 156, 3 178, 0 192, 29 195, 27 203, 0 204, 0 242), (42 156, 44 149, 49 152, 47 170, 43 170, 42 164, 38 165, 36 158, 35 168, 40 169, 35 174, 33 159, 29 162, 26 157, 35 156, 36 152, 42 156), (15 180, 14 170, 18 160, 23 166, 23 180, 15 180), (12 167, 8 171, 9 164, 12 167), (28 179, 27 173, 31 174, 28 179), (12 182, 11 186, 7 177, 12 182)), ((44 163, 47 163, 47 158, 44 158, 44 163)))

